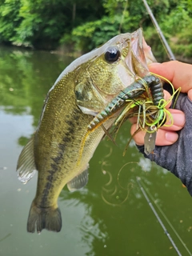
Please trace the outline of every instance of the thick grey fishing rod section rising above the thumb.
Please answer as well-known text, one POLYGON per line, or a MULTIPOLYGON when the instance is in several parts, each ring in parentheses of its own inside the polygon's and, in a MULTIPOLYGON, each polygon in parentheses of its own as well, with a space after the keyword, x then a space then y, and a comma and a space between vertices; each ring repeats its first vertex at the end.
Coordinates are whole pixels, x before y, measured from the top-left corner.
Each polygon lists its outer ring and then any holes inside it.
POLYGON ((154 18, 154 14, 153 14, 152 10, 150 9, 150 6, 146 2, 146 0, 142 0, 142 2, 144 3, 144 6, 146 6, 146 10, 147 10, 147 13, 150 15, 151 21, 154 23, 154 27, 155 27, 156 31, 158 32, 158 36, 162 42, 162 45, 164 46, 164 49, 166 50, 166 54, 168 55, 168 57, 170 58, 171 61, 175 61, 176 58, 174 57, 174 54, 173 54, 172 50, 170 49, 168 42, 166 42, 166 38, 164 37, 164 34, 162 34, 162 30, 158 26, 158 22, 157 22, 156 18, 154 18))

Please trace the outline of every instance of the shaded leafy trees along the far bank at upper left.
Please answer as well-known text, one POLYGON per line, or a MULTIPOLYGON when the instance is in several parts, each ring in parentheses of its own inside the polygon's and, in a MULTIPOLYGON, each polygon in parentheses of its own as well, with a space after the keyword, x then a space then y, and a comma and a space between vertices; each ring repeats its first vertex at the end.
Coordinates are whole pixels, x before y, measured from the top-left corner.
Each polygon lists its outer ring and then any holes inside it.
POLYGON ((70 34, 79 23, 101 18, 103 9, 96 0, 1 0, 0 3, 0 42, 42 49, 58 46, 62 35, 70 34))

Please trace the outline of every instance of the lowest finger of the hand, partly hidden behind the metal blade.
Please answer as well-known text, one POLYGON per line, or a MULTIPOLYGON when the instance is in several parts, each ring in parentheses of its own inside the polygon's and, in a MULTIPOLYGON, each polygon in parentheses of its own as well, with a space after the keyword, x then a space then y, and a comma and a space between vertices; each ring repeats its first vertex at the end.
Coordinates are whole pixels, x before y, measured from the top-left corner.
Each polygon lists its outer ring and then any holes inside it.
MULTIPOLYGON (((133 135, 136 130, 136 124, 131 126, 130 133, 133 135)), ((137 134, 134 135, 134 142, 138 146, 144 145, 144 137, 146 132, 141 130, 137 134)), ((175 131, 162 130, 159 129, 157 132, 157 137, 155 141, 155 145, 157 146, 169 146, 178 140, 178 134, 175 131)))

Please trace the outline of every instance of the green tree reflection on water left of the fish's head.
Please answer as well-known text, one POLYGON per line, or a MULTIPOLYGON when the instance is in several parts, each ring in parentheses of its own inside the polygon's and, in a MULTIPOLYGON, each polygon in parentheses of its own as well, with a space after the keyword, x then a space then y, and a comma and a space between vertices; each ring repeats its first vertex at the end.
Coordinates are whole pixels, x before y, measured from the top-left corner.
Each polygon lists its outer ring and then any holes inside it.
POLYGON ((12 114, 25 114, 28 107, 34 126, 38 124, 46 93, 73 60, 56 54, 48 56, 46 52, 18 49, 10 52, 6 47, 0 51, 0 106, 12 114))

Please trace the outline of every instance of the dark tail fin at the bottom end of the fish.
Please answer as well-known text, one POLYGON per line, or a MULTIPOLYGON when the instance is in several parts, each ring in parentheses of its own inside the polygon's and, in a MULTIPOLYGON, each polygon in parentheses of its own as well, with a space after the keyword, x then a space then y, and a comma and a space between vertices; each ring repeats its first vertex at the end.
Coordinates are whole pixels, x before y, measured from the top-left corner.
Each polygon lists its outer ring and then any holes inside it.
POLYGON ((62 216, 59 208, 41 208, 32 202, 27 231, 34 233, 36 229, 38 233, 41 233, 43 229, 59 232, 62 229, 62 216))

